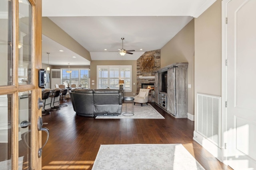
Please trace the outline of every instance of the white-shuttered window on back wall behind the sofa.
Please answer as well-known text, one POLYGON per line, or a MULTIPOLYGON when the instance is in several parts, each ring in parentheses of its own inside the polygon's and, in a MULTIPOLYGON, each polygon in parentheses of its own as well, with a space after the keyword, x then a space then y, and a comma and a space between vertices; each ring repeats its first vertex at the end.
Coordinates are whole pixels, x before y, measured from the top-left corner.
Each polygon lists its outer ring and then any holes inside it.
POLYGON ((132 91, 132 66, 97 66, 97 88, 119 89, 119 80, 124 80, 124 90, 132 91))

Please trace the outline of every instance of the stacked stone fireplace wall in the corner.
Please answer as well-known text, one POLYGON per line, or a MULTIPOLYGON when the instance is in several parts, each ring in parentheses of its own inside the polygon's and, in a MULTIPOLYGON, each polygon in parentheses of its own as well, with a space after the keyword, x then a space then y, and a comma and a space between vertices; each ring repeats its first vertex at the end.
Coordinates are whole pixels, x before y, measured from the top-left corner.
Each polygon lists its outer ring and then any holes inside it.
MULTIPOLYGON (((137 60, 137 94, 140 91, 142 83, 155 83, 155 79, 153 78, 138 78, 138 76, 154 76, 155 71, 160 69, 160 49, 154 51, 145 52, 140 58, 137 60), (142 72, 140 69, 141 66, 141 58, 145 56, 154 56, 154 68, 150 72, 142 72)), ((154 102, 154 96, 148 96, 148 102, 154 102)))

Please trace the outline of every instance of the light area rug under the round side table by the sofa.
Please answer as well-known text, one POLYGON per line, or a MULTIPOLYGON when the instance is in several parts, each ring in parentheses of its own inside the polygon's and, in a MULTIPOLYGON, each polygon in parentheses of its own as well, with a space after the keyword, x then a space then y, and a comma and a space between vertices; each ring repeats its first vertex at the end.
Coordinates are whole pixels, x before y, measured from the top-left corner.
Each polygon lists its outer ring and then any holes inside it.
MULTIPOLYGON (((132 112, 131 103, 127 104, 127 113, 132 112)), ((122 113, 118 116, 97 116, 96 119, 164 119, 164 117, 154 109, 150 104, 146 105, 140 104, 134 105, 134 115, 133 116, 124 116, 123 113, 126 112, 126 104, 122 106, 122 113)))

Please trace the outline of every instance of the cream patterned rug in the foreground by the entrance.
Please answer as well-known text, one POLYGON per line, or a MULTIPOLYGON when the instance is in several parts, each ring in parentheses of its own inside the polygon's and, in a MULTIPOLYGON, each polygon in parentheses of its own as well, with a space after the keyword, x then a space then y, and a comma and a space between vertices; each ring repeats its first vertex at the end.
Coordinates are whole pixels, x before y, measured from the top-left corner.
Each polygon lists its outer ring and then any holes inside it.
POLYGON ((92 170, 204 170, 181 144, 100 145, 92 170))

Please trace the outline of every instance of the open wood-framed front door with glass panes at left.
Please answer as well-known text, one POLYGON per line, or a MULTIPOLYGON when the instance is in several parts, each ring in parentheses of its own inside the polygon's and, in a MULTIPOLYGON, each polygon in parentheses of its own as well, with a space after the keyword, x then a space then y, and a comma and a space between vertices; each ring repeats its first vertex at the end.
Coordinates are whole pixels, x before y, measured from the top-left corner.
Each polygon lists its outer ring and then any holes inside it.
POLYGON ((41 0, 0 0, 0 169, 41 169, 41 0), (40 57, 40 58, 39 58, 40 57), (33 101, 33 102, 32 102, 33 101))

